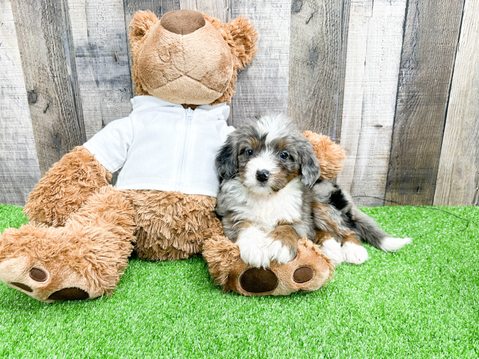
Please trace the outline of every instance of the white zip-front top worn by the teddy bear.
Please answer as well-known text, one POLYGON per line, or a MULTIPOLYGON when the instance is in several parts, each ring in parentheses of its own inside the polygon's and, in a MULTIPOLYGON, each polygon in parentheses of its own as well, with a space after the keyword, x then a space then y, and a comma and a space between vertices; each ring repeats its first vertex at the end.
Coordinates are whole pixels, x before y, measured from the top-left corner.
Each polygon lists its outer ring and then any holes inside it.
POLYGON ((164 190, 216 197, 215 155, 234 127, 228 104, 184 109, 153 96, 131 99, 130 116, 112 121, 83 146, 118 190, 164 190))

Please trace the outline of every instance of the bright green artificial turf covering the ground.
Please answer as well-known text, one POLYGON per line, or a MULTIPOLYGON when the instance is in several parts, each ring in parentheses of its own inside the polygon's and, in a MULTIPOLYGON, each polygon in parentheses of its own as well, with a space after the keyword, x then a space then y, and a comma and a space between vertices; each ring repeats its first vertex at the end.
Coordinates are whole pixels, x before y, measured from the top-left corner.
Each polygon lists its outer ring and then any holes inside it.
MULTIPOLYGON (((313 293, 223 294, 201 257, 131 259, 95 300, 44 304, 0 283, 0 357, 478 358, 479 208, 364 211, 413 244, 366 245, 366 263, 313 293)), ((0 207, 0 230, 24 222, 0 207)))

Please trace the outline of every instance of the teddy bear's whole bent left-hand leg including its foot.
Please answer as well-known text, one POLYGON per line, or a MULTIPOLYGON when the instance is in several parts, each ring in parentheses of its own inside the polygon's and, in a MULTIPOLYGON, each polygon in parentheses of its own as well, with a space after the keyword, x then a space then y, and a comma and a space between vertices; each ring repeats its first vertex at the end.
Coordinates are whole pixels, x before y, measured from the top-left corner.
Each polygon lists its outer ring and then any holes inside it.
POLYGON ((100 189, 64 227, 26 225, 0 237, 0 280, 43 302, 110 294, 134 242, 130 201, 100 189))

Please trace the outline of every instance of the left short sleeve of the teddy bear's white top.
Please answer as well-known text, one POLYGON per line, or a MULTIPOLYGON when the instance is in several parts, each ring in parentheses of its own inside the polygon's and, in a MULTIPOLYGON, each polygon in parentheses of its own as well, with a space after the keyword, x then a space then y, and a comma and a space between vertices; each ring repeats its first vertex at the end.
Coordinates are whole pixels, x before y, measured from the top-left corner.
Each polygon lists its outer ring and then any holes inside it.
POLYGON ((130 117, 110 122, 83 146, 110 172, 123 167, 127 151, 133 142, 130 117))

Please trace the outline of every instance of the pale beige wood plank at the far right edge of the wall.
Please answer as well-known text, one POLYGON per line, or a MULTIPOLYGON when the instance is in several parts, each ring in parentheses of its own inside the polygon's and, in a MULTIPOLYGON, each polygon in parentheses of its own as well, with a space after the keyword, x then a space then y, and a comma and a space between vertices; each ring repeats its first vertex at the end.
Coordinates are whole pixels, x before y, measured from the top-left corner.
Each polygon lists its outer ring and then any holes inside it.
POLYGON ((479 2, 466 0, 434 205, 479 203, 479 2))

